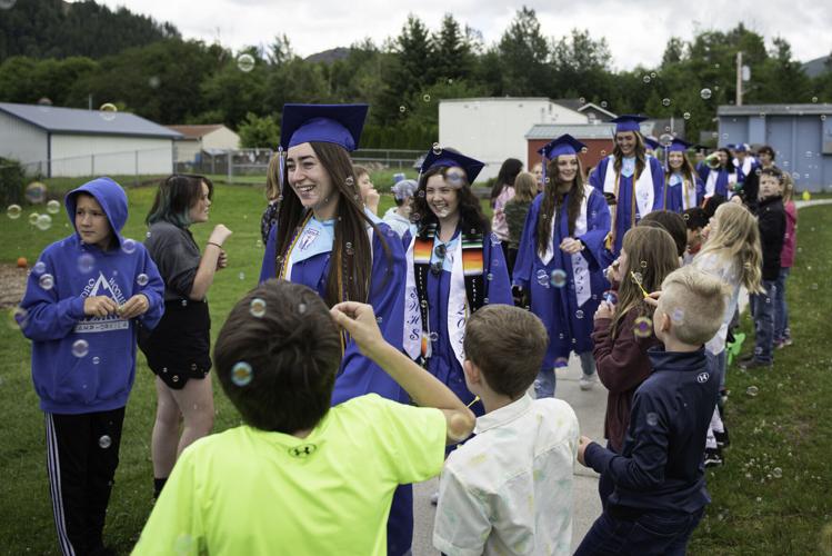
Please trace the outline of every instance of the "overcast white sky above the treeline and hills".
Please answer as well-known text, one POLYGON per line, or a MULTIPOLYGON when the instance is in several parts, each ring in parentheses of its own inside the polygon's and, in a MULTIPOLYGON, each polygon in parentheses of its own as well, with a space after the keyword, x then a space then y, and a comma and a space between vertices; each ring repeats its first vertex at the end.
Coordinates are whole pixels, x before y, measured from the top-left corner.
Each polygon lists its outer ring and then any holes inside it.
MULTIPOLYGON (((234 50, 268 44, 285 33, 300 56, 309 56, 370 37, 378 44, 401 31, 408 13, 435 29, 450 11, 462 24, 482 32, 487 44, 499 40, 522 3, 459 0, 96 0, 111 8, 170 21, 186 38, 220 42, 234 50)), ((670 37, 689 40, 696 29, 726 30, 743 21, 766 38, 778 34, 792 46, 800 61, 832 50, 830 0, 595 0, 529 1, 545 36, 562 37, 571 29, 588 29, 594 39, 607 38, 617 69, 641 63, 658 66, 670 37), (624 8, 624 6, 626 8, 624 8)))

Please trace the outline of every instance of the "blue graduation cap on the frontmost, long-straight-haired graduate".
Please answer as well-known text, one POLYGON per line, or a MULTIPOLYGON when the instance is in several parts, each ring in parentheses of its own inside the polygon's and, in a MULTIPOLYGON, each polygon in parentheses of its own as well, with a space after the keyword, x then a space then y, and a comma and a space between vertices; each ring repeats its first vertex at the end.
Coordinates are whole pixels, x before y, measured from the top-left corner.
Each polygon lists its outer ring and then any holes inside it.
POLYGON ((283 105, 280 146, 317 141, 355 150, 368 109, 369 105, 283 105))

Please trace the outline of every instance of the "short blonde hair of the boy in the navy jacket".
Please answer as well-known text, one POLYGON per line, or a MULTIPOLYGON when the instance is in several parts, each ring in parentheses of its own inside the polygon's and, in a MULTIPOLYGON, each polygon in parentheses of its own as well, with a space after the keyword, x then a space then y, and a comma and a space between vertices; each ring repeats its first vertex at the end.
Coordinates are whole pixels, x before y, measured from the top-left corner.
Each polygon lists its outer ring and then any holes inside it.
POLYGON ((730 287, 692 265, 668 275, 656 311, 670 317, 671 334, 691 346, 713 338, 722 325, 730 287))

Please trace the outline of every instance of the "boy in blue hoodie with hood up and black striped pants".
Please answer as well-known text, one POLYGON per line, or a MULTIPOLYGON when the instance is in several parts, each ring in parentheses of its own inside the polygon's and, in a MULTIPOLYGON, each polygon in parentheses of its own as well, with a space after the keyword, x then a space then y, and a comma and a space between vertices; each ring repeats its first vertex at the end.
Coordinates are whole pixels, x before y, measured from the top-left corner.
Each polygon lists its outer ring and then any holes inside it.
POLYGON ((104 515, 136 376, 136 326, 159 321, 164 285, 144 247, 119 234, 128 216, 121 186, 98 178, 64 202, 76 232, 43 250, 17 318, 32 340, 61 552, 107 554, 104 515))

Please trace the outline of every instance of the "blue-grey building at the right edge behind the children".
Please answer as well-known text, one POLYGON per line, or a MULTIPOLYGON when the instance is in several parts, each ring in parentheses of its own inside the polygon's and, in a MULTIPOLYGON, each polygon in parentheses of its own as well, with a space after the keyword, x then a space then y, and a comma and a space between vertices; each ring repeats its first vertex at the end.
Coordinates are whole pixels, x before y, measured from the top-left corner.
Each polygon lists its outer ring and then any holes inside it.
POLYGON ((832 190, 832 105, 720 106, 719 146, 769 145, 799 190, 832 190))

